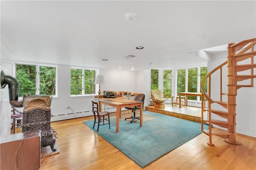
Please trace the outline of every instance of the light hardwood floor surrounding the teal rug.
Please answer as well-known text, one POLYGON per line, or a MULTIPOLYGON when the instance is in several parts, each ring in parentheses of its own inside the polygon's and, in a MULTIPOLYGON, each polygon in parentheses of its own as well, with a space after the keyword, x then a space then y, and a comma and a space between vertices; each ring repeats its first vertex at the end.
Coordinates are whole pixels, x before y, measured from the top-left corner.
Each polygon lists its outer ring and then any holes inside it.
MULTIPOLYGON (((112 114, 114 115, 114 114, 112 114)), ((131 113, 122 115, 130 117, 131 113)), ((52 122, 58 135, 59 154, 41 159, 40 170, 141 170, 130 158, 98 136, 82 121, 83 117, 52 122)), ((121 130, 121 129, 120 129, 121 130)), ((17 128, 17 133, 21 128, 17 128)), ((159 158, 144 170, 255 170, 256 138, 237 134, 241 145, 230 145, 213 137, 215 147, 207 145, 208 136, 200 134, 159 158)), ((131 141, 132 143, 132 141, 131 141)), ((149 148, 150 149, 150 148, 149 148)))

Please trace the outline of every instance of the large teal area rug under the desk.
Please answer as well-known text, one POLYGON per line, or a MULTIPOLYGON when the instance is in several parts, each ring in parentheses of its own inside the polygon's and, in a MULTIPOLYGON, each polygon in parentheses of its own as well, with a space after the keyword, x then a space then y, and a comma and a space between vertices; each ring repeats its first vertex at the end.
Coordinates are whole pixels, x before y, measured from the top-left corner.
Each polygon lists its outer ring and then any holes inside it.
MULTIPOLYGON (((94 120, 83 123, 92 129, 94 120)), ((207 129, 208 125, 204 126, 207 129)), ((92 130, 141 168, 201 133, 201 123, 145 110, 142 127, 139 120, 130 123, 129 119, 120 119, 119 133, 116 133, 116 116, 112 116, 110 128, 102 125, 97 132, 96 124, 92 130)))

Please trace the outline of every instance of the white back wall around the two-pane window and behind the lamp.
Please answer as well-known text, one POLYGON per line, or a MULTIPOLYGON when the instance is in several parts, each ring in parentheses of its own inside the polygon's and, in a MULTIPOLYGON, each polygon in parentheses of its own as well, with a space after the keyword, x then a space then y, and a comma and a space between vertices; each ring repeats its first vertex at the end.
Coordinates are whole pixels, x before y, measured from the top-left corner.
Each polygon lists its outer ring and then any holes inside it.
MULTIPOLYGON (((54 117, 51 121, 92 115, 91 101, 96 101, 94 96, 70 96, 70 68, 71 66, 68 65, 58 65, 58 98, 52 100, 51 112, 54 117), (72 114, 73 111, 74 114, 72 114)), ((105 84, 100 84, 101 95, 103 95, 104 90, 137 92, 136 71, 100 69, 100 74, 105 79, 105 84)), ((98 84, 96 86, 98 88, 98 84)), ((111 111, 116 110, 112 107, 111 111)))

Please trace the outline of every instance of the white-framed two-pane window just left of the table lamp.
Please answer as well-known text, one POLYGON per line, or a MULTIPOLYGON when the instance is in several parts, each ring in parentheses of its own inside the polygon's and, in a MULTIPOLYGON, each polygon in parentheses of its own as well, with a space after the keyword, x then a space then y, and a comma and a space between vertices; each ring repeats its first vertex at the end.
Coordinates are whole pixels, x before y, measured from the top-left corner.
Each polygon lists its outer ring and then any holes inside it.
POLYGON ((71 68, 71 95, 96 94, 96 70, 71 68))

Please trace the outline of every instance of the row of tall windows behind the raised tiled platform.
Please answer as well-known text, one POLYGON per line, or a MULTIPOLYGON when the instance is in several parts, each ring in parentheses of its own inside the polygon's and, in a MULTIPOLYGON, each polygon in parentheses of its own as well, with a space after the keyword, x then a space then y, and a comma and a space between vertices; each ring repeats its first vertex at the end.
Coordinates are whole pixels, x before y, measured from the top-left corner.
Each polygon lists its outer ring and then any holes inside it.
MULTIPOLYGON (((180 92, 201 93, 201 82, 206 74, 207 66, 177 69, 176 75, 173 70, 152 69, 151 90, 160 89, 170 97, 179 96, 180 92)), ((204 83, 204 90, 207 92, 207 82, 204 83)), ((200 101, 201 98, 188 96, 188 100, 200 101)))

